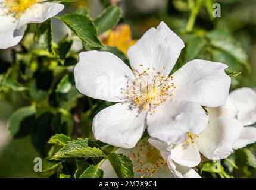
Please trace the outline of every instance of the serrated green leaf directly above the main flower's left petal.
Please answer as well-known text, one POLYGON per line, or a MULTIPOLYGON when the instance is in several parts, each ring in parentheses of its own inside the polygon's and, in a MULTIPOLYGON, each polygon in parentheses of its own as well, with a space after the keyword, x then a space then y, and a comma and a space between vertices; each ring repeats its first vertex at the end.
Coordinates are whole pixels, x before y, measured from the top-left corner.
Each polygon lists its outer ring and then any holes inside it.
POLYGON ((90 47, 102 47, 98 33, 89 15, 65 14, 61 20, 90 47))

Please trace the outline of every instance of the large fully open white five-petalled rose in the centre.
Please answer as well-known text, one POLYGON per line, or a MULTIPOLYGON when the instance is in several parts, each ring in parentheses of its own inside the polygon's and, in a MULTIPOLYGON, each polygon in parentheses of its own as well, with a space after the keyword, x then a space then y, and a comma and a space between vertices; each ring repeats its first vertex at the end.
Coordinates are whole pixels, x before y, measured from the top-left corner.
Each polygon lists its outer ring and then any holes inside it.
POLYGON ((227 65, 192 60, 169 76, 184 43, 161 22, 129 48, 132 70, 108 52, 80 53, 74 68, 77 90, 86 96, 120 102, 93 119, 95 138, 122 148, 135 147, 147 126, 149 135, 181 143, 187 132, 201 133, 208 116, 201 106, 225 105, 230 88, 227 65))

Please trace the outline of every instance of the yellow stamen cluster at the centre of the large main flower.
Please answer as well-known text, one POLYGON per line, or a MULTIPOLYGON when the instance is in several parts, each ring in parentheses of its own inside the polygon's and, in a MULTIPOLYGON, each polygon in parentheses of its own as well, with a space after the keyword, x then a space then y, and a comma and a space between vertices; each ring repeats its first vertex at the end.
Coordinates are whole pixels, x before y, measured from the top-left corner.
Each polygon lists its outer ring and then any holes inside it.
POLYGON ((136 79, 127 81, 127 89, 122 89, 121 93, 135 105, 141 105, 142 109, 151 109, 152 113, 155 113, 157 106, 173 96, 173 91, 176 89, 173 76, 165 74, 165 66, 161 71, 156 71, 155 68, 145 69, 143 64, 139 66, 142 72, 133 68, 136 79))

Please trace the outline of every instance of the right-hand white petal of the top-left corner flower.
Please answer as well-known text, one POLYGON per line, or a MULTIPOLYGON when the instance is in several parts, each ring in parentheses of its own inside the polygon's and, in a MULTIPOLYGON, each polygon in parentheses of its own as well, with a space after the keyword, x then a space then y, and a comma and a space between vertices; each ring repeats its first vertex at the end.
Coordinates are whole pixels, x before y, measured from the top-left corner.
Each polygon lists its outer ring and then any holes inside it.
POLYGON ((29 23, 43 23, 48 18, 52 18, 64 9, 63 4, 57 4, 53 2, 37 3, 27 9, 24 14, 21 15, 17 29, 20 29, 25 24, 29 23))

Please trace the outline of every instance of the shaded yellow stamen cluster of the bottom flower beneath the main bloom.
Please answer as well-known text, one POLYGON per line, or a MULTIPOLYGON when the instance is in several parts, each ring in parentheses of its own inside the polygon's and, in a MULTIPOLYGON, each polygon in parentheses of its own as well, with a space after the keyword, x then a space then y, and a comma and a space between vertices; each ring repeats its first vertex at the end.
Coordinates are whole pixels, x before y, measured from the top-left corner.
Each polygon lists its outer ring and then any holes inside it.
POLYGON ((136 149, 130 151, 130 157, 135 163, 135 174, 138 174, 140 178, 152 178, 158 169, 162 172, 166 171, 166 160, 161 157, 160 151, 152 145, 137 144, 136 149))

